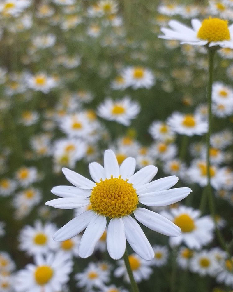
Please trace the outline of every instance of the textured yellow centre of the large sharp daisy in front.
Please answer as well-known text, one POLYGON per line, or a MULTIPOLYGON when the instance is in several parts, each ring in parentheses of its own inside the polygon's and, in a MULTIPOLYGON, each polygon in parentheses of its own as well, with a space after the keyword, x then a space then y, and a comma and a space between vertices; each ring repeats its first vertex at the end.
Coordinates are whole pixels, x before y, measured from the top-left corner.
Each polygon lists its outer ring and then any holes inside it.
POLYGON ((110 179, 101 179, 91 192, 90 202, 92 209, 98 214, 109 218, 131 214, 138 204, 136 190, 128 179, 121 176, 110 179))

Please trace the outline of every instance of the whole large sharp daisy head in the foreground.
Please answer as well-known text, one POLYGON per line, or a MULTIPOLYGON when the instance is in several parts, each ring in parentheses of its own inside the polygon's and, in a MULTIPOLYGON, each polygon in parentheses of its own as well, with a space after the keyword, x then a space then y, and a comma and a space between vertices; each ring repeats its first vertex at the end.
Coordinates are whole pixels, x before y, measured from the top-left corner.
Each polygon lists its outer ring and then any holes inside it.
POLYGON ((146 208, 138 208, 138 203, 147 206, 166 206, 185 198, 191 189, 175 188, 178 178, 175 176, 152 181, 157 173, 153 165, 146 166, 134 174, 136 161, 126 158, 119 167, 112 150, 104 153, 104 167, 93 162, 89 164, 93 181, 67 168, 63 168, 66 178, 75 187, 57 186, 52 193, 59 199, 45 204, 61 209, 75 209, 91 203, 92 210, 85 211, 72 219, 53 238, 56 241, 67 240, 82 230, 79 256, 87 258, 95 248, 97 241, 105 231, 107 218, 107 250, 113 259, 123 256, 126 239, 135 253, 146 260, 154 258, 154 251, 141 227, 130 214, 146 227, 168 236, 179 236, 181 230, 170 220, 146 208))

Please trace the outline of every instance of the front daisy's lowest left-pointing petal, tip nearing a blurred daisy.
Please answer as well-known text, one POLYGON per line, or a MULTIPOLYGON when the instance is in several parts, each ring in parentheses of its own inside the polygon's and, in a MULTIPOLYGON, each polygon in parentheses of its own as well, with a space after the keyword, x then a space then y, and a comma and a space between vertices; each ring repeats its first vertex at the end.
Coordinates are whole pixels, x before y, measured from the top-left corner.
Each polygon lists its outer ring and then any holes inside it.
POLYGON ((74 237, 83 231, 91 219, 96 215, 93 210, 88 210, 78 215, 74 219, 70 220, 63 227, 61 227, 57 232, 54 233, 53 239, 56 241, 64 241, 74 237))

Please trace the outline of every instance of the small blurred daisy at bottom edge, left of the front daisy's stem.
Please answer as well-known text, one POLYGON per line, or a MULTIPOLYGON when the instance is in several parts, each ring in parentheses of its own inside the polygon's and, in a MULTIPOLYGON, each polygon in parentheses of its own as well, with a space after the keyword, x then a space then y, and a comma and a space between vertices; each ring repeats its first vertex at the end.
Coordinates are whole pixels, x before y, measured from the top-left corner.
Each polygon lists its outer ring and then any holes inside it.
POLYGON ((93 262, 90 262, 82 273, 75 275, 77 287, 92 291, 93 288, 101 288, 110 281, 109 271, 103 271, 93 262))

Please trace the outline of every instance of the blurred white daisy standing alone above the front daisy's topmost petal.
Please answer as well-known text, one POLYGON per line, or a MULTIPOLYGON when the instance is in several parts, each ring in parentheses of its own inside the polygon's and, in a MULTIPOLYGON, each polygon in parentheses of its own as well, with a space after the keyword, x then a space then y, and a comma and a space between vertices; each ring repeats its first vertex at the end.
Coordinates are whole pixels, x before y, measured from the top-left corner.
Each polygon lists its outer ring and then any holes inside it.
POLYGON ((100 117, 110 121, 117 121, 125 126, 129 126, 131 120, 135 119, 139 112, 139 103, 131 101, 127 96, 117 101, 108 98, 97 108, 97 114, 100 117))

